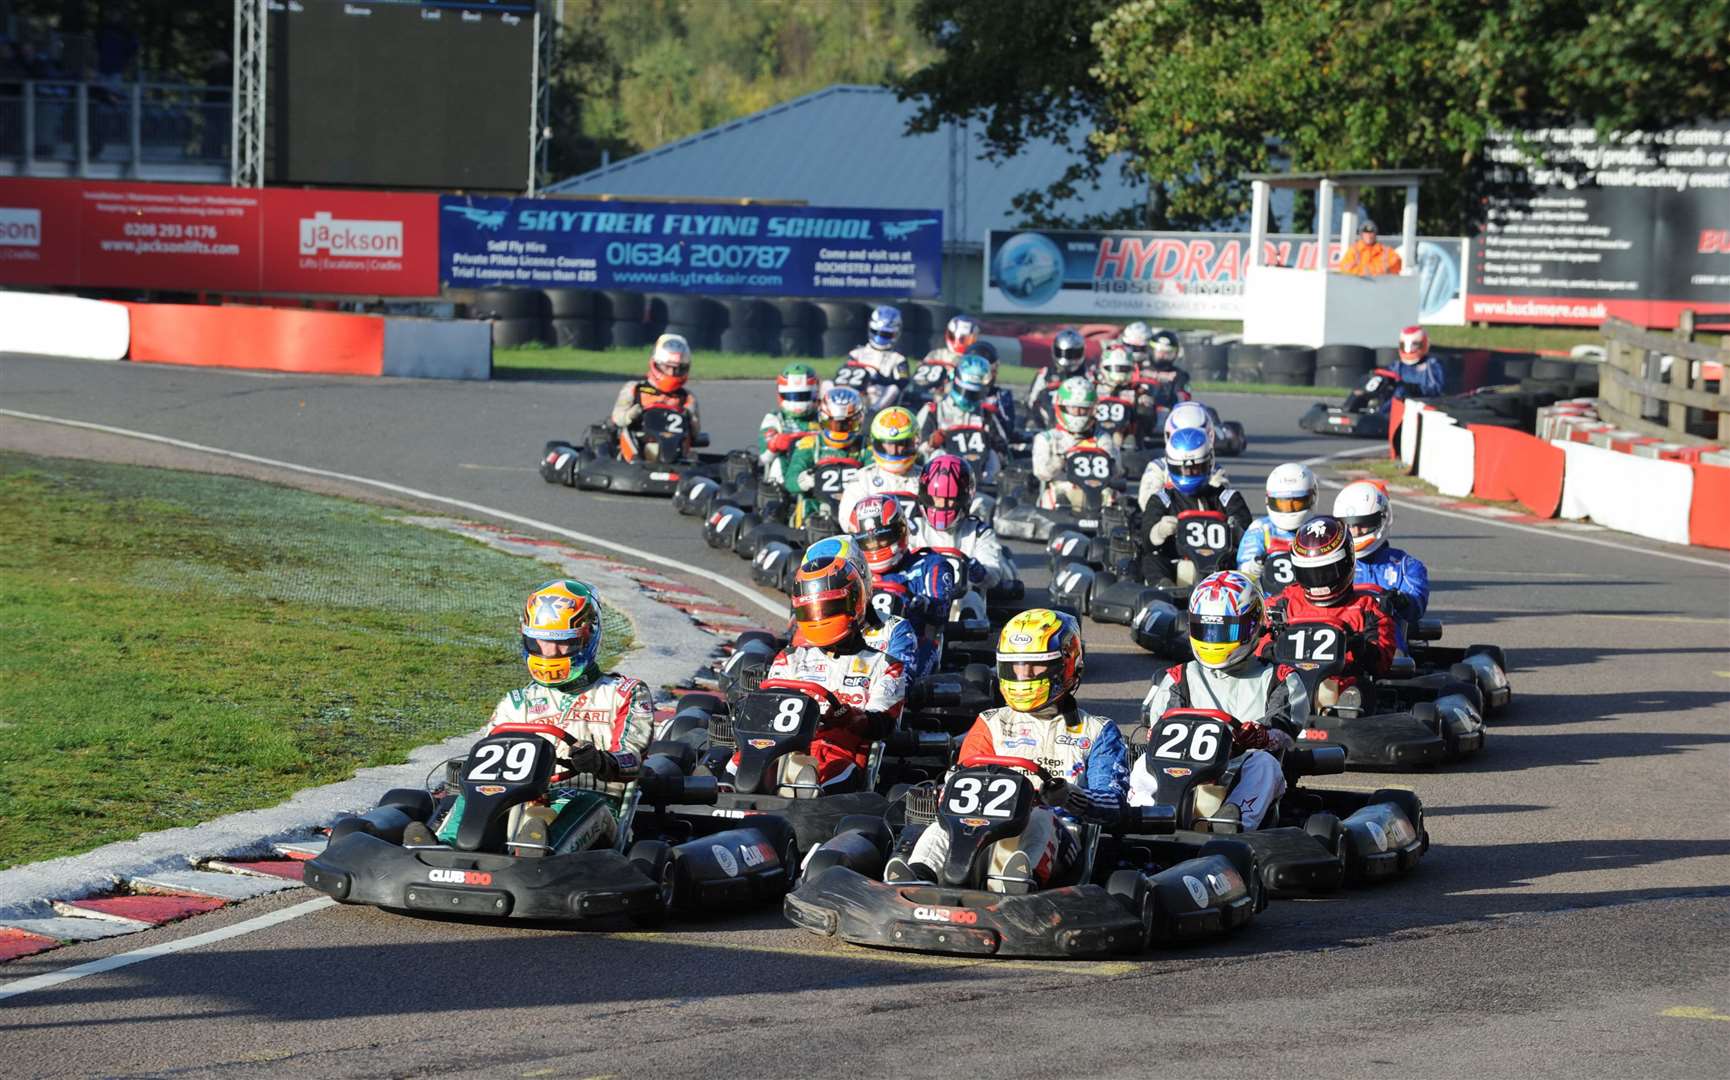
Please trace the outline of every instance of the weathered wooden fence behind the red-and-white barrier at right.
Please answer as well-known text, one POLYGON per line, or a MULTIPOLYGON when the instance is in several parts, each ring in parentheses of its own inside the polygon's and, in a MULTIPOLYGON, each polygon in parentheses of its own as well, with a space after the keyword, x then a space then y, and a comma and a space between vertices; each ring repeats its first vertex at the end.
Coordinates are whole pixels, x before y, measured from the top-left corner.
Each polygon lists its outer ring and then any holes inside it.
POLYGON ((1604 324, 1604 370, 1599 414, 1630 431, 1673 443, 1716 441, 1730 447, 1730 336, 1723 348, 1690 341, 1692 312, 1669 338, 1621 318, 1604 324), (1716 389, 1709 384, 1716 382, 1716 389))

